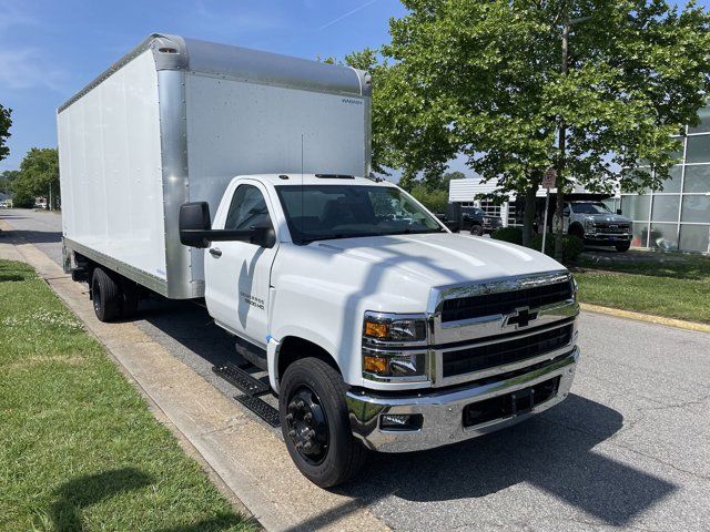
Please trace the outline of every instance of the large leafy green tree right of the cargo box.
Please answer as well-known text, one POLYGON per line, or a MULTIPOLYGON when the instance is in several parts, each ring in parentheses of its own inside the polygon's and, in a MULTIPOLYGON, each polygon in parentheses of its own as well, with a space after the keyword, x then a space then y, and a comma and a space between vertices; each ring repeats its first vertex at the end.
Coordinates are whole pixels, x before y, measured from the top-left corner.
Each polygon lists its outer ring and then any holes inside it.
POLYGON ((676 162, 671 134, 697 121, 710 88, 710 19, 694 3, 403 3, 374 86, 381 161, 403 168, 406 185, 465 154, 500 195, 526 198, 527 245, 547 168, 558 168, 562 191, 569 176, 597 191, 658 186, 676 162))

